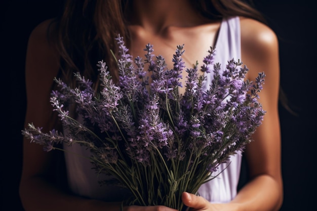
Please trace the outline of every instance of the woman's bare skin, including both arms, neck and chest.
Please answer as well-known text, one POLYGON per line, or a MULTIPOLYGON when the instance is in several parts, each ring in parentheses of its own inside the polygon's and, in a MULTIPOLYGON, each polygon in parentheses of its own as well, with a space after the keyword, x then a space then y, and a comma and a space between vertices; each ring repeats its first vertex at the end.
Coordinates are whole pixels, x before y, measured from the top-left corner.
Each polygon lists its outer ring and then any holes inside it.
MULTIPOLYGON (((191 66, 196 60, 202 63, 207 50, 215 43, 220 22, 201 18, 189 5, 181 2, 136 1, 134 13, 138 16, 129 26, 132 33, 130 54, 144 55, 142 49, 150 40, 156 55, 172 58, 176 45, 185 44, 186 66, 191 66), (165 4, 176 4, 178 7, 167 7, 165 4), (179 5, 183 8, 180 9, 179 5)), ((56 121, 52 120, 49 98, 53 78, 59 68, 59 55, 46 38, 48 24, 49 21, 45 21, 33 30, 26 56, 28 104, 25 122, 43 126, 45 131, 58 128, 56 121)), ((254 134, 255 141, 247 146, 245 153, 252 180, 229 203, 212 204, 202 197, 183 193, 183 202, 192 210, 273 211, 278 210, 282 203, 278 40, 271 29, 251 19, 241 18, 241 29, 242 61, 250 69, 248 76, 254 80, 258 72, 265 71, 266 74, 260 102, 267 113, 263 124, 254 134)), ((167 62, 170 62, 168 66, 172 65, 169 59, 167 62)), ((25 210, 120 210, 121 202, 84 199, 52 186, 45 178, 54 162, 54 152, 44 152, 41 146, 30 144, 29 140, 24 140, 23 150, 20 195, 25 210)), ((124 207, 124 210, 175 209, 165 206, 129 206, 124 207)))

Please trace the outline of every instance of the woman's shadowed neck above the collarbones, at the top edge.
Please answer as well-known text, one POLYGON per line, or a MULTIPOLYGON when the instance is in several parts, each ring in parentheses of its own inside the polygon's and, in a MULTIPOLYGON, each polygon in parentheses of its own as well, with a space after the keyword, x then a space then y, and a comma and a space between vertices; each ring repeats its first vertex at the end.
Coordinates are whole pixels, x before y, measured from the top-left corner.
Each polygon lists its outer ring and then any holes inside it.
POLYGON ((190 27, 208 22, 184 0, 135 0, 130 20, 131 25, 139 25, 152 33, 171 26, 190 27))

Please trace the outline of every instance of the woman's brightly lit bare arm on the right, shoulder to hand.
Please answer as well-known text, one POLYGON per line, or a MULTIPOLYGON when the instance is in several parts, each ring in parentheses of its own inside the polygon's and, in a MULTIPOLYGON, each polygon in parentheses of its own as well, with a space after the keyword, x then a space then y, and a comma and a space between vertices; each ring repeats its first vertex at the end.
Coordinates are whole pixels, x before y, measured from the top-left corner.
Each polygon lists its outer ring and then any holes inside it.
POLYGON ((278 113, 280 64, 278 39, 262 23, 241 18, 242 61, 249 68, 248 78, 266 74, 260 103, 264 120, 247 145, 245 155, 251 180, 227 204, 211 204, 202 197, 184 193, 183 201, 195 210, 279 210, 283 201, 281 174, 281 132, 278 113))

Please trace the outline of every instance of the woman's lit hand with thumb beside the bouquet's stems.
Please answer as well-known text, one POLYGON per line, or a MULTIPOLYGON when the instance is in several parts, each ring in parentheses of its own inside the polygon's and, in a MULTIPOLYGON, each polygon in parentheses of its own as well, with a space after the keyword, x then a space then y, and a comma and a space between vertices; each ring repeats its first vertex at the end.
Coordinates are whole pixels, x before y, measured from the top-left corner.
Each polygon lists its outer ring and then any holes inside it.
POLYGON ((190 207, 190 211, 234 211, 237 210, 237 205, 233 203, 210 203, 202 196, 196 196, 191 193, 182 193, 183 203, 190 207))

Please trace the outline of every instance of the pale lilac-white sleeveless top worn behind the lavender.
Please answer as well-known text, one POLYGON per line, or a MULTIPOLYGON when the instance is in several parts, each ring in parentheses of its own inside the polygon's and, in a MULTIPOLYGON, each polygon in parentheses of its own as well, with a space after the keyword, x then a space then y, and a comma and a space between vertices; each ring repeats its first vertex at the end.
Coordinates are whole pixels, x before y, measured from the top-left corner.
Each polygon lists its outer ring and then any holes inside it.
MULTIPOLYGON (((240 19, 233 17, 223 19, 218 32, 216 41, 215 62, 219 62, 225 68, 228 60, 234 58, 241 59, 241 41, 240 41, 240 19)), ((206 85, 212 80, 212 72, 207 76, 206 85)), ((102 185, 98 181, 110 179, 110 176, 99 175, 92 170, 92 164, 87 157, 90 151, 85 147, 72 145, 64 146, 66 161, 66 170, 70 190, 77 195, 88 198, 102 199, 105 201, 121 201, 128 196, 128 191, 114 186, 102 185), (77 155, 81 156, 77 156, 77 155), (86 156, 86 158, 84 158, 86 156)), ((198 194, 210 202, 228 202, 236 195, 237 184, 239 182, 242 155, 238 152, 230 158, 230 164, 223 163, 219 166, 217 175, 223 171, 217 178, 202 185, 198 194), (227 166, 228 165, 228 166, 227 166)))

